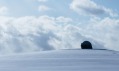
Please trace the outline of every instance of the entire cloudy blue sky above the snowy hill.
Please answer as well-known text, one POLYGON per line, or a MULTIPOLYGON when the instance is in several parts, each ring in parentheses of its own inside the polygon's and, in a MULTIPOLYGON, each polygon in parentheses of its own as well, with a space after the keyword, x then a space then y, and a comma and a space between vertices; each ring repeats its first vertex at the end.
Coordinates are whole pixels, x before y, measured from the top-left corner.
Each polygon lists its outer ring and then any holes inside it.
POLYGON ((118 0, 0 0, 0 54, 80 48, 119 51, 118 0))

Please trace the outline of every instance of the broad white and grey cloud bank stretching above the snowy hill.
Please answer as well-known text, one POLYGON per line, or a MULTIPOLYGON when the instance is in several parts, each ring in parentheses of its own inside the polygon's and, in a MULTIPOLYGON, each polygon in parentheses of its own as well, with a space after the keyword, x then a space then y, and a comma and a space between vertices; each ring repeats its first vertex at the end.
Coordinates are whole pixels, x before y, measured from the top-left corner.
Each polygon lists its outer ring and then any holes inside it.
POLYGON ((0 54, 74 49, 85 40, 94 49, 119 50, 118 19, 93 17, 84 26, 74 25, 74 20, 63 16, 0 16, 0 20, 0 54))

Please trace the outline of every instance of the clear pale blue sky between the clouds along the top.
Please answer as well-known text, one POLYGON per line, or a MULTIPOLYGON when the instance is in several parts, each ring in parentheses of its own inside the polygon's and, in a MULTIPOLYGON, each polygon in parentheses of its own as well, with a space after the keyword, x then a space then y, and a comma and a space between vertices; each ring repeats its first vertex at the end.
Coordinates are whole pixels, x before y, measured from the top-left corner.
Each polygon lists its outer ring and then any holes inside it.
MULTIPOLYGON (((118 12, 118 0, 93 0, 96 4, 111 8, 118 12)), ((10 16, 39 16, 39 15, 51 15, 51 16, 78 16, 73 12, 69 6, 72 0, 49 0, 46 2, 39 2, 38 0, 0 0, 0 6, 6 6, 9 9, 10 16), (52 10, 47 12, 39 12, 38 6, 45 5, 52 10)))

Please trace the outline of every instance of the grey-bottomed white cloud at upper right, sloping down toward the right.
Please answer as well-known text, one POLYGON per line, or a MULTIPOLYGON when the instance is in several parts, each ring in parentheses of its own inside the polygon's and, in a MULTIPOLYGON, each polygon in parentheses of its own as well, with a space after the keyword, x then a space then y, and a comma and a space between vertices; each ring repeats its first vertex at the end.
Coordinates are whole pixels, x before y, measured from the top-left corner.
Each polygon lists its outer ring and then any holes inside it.
POLYGON ((118 16, 113 10, 104 6, 96 4, 93 0, 73 0, 70 8, 77 12, 79 15, 109 15, 112 17, 118 16))

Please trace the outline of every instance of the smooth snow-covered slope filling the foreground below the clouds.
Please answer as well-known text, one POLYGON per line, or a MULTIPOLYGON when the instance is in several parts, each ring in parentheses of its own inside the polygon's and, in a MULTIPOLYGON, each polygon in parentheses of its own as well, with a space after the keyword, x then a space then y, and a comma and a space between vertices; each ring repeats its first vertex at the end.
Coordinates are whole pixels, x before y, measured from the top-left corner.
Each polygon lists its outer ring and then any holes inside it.
POLYGON ((0 56, 0 71, 118 71, 119 52, 52 50, 0 56))

